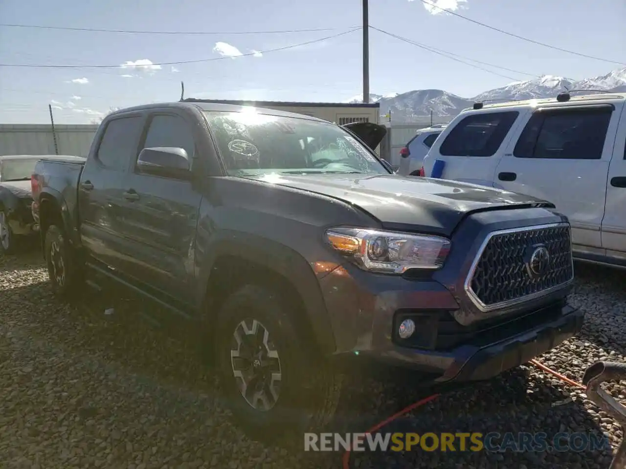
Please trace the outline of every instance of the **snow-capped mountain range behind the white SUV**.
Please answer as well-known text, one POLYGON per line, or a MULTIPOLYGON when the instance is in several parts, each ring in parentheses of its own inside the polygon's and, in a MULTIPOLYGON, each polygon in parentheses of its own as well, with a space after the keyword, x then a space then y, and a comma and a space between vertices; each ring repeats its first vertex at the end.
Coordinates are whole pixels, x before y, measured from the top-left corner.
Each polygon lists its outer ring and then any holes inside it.
MULTIPOLYGON (((371 94, 371 102, 381 103, 381 114, 386 114, 391 109, 393 122, 424 121, 424 119, 431 117, 431 111, 434 122, 443 122, 453 118, 475 101, 553 98, 565 89, 600 89, 626 93, 626 68, 582 80, 544 75, 531 80, 516 81, 501 88, 490 89, 473 98, 461 98, 461 96, 441 89, 421 89, 397 94, 393 97, 371 94)), ((361 103, 361 96, 355 96, 350 102, 361 103)))

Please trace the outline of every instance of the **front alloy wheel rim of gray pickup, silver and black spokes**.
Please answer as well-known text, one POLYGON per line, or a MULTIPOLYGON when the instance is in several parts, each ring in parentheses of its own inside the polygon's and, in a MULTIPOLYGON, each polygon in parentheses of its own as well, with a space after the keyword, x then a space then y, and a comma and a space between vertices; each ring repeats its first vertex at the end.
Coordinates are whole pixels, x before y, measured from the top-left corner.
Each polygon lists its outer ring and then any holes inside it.
POLYGON ((245 319, 235 327, 230 362, 248 405, 259 411, 272 409, 279 399, 282 369, 278 350, 262 323, 245 319))

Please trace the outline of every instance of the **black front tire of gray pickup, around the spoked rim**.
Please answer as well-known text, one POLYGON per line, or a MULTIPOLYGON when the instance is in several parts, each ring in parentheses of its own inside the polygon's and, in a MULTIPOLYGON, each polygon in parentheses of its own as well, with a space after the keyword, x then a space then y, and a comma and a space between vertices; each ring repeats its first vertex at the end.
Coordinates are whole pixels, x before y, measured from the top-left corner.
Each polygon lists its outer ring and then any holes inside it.
MULTIPOLYGON (((332 420, 341 394, 342 375, 313 350, 307 350, 287 311, 290 309, 279 295, 267 288, 246 285, 235 291, 218 315, 215 356, 225 403, 242 430, 253 440, 301 448, 304 432, 321 431, 332 420), (278 383, 274 386, 279 391, 278 398, 269 410, 254 408, 240 390, 241 378, 235 378, 235 368, 239 371, 244 363, 231 356, 232 350, 242 350, 237 348, 235 331, 250 340, 253 336, 245 332, 242 321, 249 331, 254 331, 256 323, 257 338, 267 331, 264 351, 276 351, 278 355, 278 363, 266 357, 266 364, 272 362, 272 378, 277 370, 281 375, 279 381, 274 381, 278 383)), ((266 401, 274 401, 270 388, 264 389, 266 401)), ((259 402, 253 399, 253 403, 259 402)))

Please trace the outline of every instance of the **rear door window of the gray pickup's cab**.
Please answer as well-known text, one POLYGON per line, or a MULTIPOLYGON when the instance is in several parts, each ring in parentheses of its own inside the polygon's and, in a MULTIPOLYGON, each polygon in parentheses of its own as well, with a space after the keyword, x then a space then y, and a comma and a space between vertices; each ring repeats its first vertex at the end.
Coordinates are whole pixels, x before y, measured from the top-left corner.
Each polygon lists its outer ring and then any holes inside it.
POLYGON ((106 124, 96 158, 109 169, 126 171, 135 156, 142 119, 140 116, 116 118, 106 124))

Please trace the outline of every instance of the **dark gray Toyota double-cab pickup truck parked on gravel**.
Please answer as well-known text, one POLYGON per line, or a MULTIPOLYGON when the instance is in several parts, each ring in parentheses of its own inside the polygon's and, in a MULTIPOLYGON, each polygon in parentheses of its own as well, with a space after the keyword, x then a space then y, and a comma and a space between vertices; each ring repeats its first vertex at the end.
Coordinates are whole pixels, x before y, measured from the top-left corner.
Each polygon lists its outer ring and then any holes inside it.
POLYGON ((84 164, 36 165, 51 287, 113 280, 191 321, 262 440, 329 421, 342 358, 484 380, 575 335, 567 218, 392 174, 385 132, 190 99, 116 111, 84 164))

